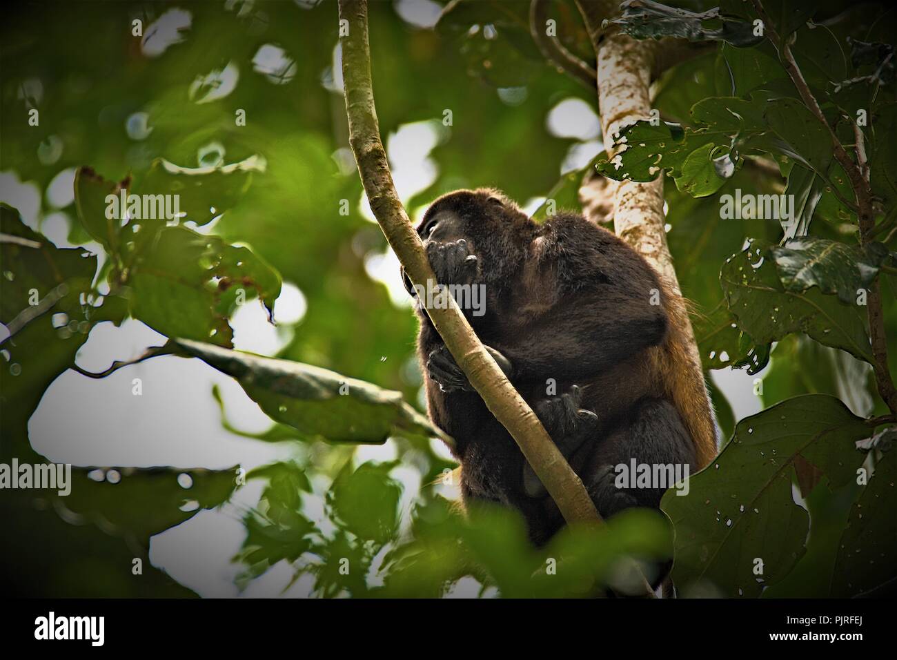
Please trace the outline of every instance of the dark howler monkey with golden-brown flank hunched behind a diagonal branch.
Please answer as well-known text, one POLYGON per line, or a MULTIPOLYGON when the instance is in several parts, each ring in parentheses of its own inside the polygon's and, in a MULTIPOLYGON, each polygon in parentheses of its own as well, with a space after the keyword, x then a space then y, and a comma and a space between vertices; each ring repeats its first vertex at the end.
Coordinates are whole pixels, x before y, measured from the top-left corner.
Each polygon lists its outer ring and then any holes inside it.
MULTIPOLYGON (((440 285, 484 290, 484 310, 462 305, 468 321, 602 516, 657 507, 664 491, 616 488, 614 466, 693 471, 710 461, 715 430, 704 383, 687 367, 687 319, 625 242, 573 214, 536 224, 492 189, 437 199, 417 232, 440 285)), ((455 438, 464 501, 517 508, 544 543, 561 528, 560 511, 417 307, 428 410, 455 438)))

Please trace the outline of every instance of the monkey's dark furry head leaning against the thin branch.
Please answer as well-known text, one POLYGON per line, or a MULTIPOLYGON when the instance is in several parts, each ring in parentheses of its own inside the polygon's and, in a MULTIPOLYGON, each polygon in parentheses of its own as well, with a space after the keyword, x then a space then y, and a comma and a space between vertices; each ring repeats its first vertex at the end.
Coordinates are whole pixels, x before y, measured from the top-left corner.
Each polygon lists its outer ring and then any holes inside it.
MULTIPOLYGON (((417 225, 417 233, 431 255, 434 248, 463 240, 464 250, 475 257, 476 264, 469 284, 501 286, 523 264, 539 226, 499 190, 481 188, 455 190, 436 199, 417 225)), ((404 269, 402 278, 414 295, 404 269)))

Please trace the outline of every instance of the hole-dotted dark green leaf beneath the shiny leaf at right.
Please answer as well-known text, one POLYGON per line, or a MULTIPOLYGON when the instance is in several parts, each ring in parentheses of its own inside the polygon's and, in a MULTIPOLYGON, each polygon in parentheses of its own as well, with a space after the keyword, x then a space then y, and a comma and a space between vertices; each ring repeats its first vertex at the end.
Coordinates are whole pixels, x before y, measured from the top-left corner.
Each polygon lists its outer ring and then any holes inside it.
POLYGON ((738 327, 758 343, 806 332, 816 341, 873 361, 866 325, 857 305, 840 304, 819 291, 786 291, 761 242, 723 265, 719 281, 738 327))

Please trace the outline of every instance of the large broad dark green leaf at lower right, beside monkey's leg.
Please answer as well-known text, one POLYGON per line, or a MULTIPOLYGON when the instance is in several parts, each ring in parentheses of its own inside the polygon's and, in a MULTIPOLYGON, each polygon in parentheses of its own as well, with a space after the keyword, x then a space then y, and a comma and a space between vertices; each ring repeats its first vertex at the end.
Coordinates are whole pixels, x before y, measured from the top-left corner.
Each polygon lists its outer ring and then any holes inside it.
POLYGON ((823 471, 835 486, 848 483, 865 455, 856 442, 864 420, 840 400, 810 394, 738 422, 718 458, 692 476, 690 491, 668 490, 661 508, 675 527, 675 584, 756 596, 761 585, 788 575, 805 550, 808 518, 791 494, 794 463, 823 471), (762 573, 757 560, 762 561, 762 573))

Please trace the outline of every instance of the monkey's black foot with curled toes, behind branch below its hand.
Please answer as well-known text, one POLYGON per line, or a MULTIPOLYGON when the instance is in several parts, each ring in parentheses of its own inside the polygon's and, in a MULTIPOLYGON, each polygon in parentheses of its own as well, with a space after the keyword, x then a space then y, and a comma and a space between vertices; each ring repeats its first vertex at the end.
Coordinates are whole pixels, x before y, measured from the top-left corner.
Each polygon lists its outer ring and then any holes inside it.
MULTIPOLYGON (((598 430, 598 416, 591 410, 579 408, 581 401, 582 391, 577 385, 573 385, 570 392, 536 404, 536 416, 568 461, 598 430)), ((523 489, 529 497, 544 497, 548 494, 528 461, 523 463, 523 489)))

